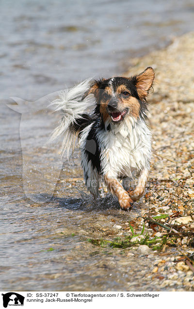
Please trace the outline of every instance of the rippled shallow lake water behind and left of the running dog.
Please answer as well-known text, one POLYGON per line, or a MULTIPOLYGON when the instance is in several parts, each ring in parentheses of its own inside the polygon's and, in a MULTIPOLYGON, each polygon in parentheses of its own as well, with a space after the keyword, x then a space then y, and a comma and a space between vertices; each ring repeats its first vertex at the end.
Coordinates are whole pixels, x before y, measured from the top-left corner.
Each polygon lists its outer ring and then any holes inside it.
POLYGON ((37 110, 24 102, 22 116, 5 103, 10 96, 32 101, 86 77, 120 74, 131 56, 192 30, 193 4, 21 0, 0 6, 0 289, 156 290, 141 280, 145 269, 149 273, 147 257, 87 241, 119 236, 115 225, 127 226, 141 214, 141 203, 130 213, 111 197, 94 203, 78 153, 64 163, 58 148, 46 144, 58 120, 45 114, 47 100, 37 110))

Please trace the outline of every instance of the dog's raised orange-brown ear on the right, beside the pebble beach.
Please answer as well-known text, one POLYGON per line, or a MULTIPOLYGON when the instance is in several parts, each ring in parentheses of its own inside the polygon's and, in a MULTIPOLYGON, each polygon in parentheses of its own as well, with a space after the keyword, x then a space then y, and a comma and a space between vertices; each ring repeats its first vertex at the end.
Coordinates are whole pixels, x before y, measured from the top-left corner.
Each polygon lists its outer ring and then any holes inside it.
POLYGON ((136 77, 136 88, 140 99, 145 99, 154 81, 154 70, 148 67, 136 77))

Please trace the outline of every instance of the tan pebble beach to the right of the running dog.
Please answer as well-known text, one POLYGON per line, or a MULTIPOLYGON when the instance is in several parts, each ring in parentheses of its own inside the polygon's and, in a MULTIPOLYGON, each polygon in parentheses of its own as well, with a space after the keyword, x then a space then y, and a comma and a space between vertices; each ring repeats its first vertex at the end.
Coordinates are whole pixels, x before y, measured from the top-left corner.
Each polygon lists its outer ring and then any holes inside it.
MULTIPOLYGON (((164 50, 132 59, 126 73, 127 76, 136 74, 148 66, 155 70, 154 91, 148 98, 153 154, 149 188, 143 204, 149 206, 152 218, 166 214, 168 220, 162 221, 171 223, 179 235, 182 232, 174 243, 174 256, 165 257, 167 242, 162 257, 154 262, 152 275, 147 277, 155 281, 157 290, 194 291, 193 51, 194 33, 189 33, 175 38, 164 50), (186 231, 190 232, 189 236, 184 236, 186 231)), ((146 212, 147 209, 142 210, 141 215, 146 212)), ((152 232, 148 229, 149 233, 162 237, 165 229, 156 226, 152 226, 152 232)))

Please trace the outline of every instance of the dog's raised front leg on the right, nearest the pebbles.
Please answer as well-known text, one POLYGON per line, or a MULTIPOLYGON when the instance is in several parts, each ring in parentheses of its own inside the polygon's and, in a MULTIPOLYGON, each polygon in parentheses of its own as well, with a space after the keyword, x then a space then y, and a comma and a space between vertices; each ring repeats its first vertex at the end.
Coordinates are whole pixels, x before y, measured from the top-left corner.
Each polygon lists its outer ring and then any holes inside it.
POLYGON ((149 170, 147 168, 144 168, 138 178, 138 183, 136 188, 133 191, 128 191, 131 199, 133 201, 137 201, 140 199, 140 197, 144 194, 144 190, 146 187, 146 182, 148 178, 149 170))

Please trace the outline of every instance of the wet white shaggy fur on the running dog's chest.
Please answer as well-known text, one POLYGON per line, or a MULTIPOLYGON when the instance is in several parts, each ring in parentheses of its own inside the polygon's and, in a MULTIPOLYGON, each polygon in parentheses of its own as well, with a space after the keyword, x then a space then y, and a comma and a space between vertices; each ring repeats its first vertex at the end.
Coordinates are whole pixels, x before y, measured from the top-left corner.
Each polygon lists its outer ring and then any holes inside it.
POLYGON ((144 120, 127 118, 111 124, 110 131, 98 131, 102 172, 110 177, 131 177, 133 170, 149 169, 151 133, 144 120))

